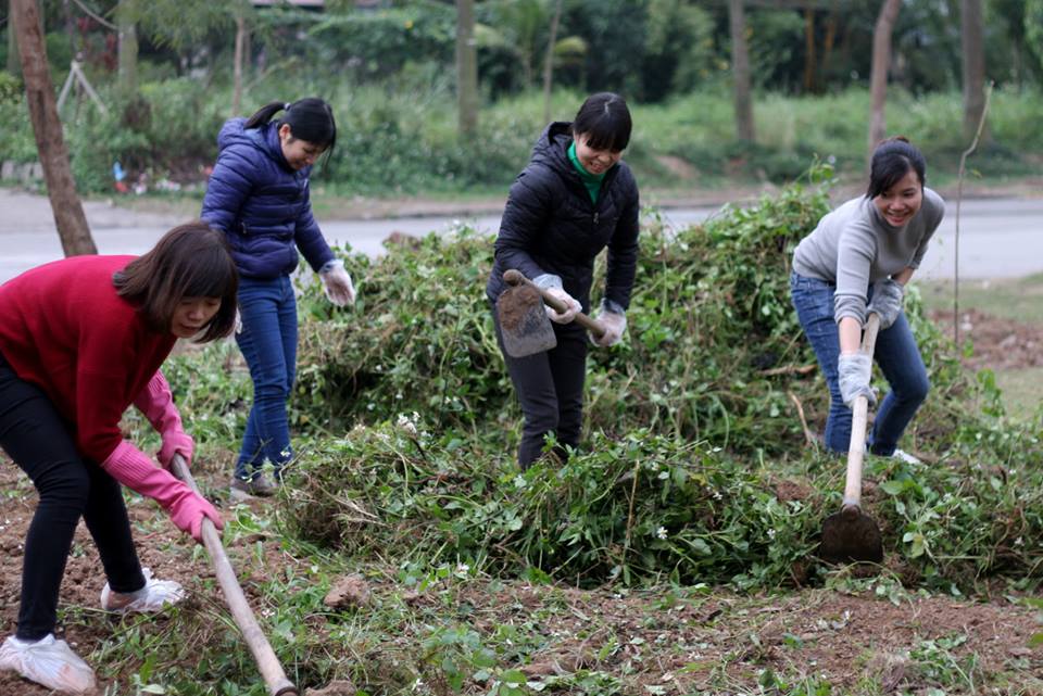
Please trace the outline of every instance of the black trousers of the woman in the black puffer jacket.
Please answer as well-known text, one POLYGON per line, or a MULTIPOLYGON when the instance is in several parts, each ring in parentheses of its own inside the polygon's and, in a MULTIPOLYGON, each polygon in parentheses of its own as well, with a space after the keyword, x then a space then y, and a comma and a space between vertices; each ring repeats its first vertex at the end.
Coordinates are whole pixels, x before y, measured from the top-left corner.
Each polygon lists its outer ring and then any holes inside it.
POLYGON ((552 324, 557 346, 525 357, 511 357, 503 347, 500 320, 492 311, 497 339, 525 415, 518 464, 523 469, 539 458, 543 439, 553 432, 564 458, 564 445, 575 447, 583 426, 583 381, 587 377, 587 330, 579 325, 552 324))

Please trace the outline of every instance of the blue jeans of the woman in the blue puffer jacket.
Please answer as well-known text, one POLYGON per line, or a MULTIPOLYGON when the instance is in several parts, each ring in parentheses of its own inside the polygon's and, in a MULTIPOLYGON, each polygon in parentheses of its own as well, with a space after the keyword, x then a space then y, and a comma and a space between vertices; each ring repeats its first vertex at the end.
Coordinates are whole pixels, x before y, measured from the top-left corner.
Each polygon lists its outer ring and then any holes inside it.
POLYGON ((239 315, 236 342, 253 379, 253 406, 236 476, 249 481, 265 459, 279 474, 293 456, 286 402, 297 370, 297 299, 289 276, 240 278, 239 315))

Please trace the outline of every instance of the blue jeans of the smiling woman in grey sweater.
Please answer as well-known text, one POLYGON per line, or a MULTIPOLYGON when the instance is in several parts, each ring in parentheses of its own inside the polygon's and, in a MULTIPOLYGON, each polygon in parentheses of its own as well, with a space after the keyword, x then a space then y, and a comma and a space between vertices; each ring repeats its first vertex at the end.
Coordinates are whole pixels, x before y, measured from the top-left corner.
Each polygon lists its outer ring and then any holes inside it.
MULTIPOLYGON (((837 360, 840 357, 840 329, 833 319, 833 283, 806 278, 796 273, 790 276, 790 292, 796 316, 810 341, 818 365, 829 385, 829 416, 826 418, 826 446, 834 452, 847 452, 851 444, 851 409, 840 395, 837 360)), ((872 287, 869 288, 870 298, 872 287)), ((905 313, 888 329, 877 334, 874 358, 891 385, 877 410, 869 435, 869 451, 890 456, 913 420, 916 410, 927 398, 929 388, 927 368, 920 357, 905 313)))

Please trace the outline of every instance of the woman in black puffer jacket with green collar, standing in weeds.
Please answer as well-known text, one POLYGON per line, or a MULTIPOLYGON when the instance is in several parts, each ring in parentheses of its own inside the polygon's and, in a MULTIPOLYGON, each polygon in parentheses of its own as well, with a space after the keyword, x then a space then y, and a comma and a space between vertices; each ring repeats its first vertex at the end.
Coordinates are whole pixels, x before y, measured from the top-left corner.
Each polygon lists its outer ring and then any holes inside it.
POLYGON ((605 246, 608 268, 595 318, 607 331, 595 343, 614 345, 627 328, 639 212, 638 185, 621 161, 630 128, 621 97, 593 94, 573 123, 546 127, 511 187, 486 293, 495 303, 504 290, 503 273, 515 268, 569 307, 562 314, 546 307, 556 347, 522 358, 503 351, 525 414, 518 450, 523 469, 540 456, 549 432, 561 447, 579 442, 588 343, 586 331, 571 321, 577 312, 590 311, 594 257, 605 246))

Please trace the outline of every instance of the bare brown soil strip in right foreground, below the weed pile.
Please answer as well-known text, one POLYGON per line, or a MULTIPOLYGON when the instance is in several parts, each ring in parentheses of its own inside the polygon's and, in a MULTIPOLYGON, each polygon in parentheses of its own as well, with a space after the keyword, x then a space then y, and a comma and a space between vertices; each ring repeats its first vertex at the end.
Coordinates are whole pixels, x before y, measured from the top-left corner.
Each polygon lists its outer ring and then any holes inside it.
POLYGON ((945 597, 894 605, 812 590, 753 598, 715 592, 670 603, 662 592, 517 585, 462 599, 477 608, 474 623, 482 633, 541 617, 540 632, 554 637, 520 666, 529 678, 599 670, 623 678, 628 694, 703 693, 722 683, 734 693, 757 691, 767 668, 820 675, 837 693, 874 680, 888 687, 885 693, 919 693, 930 682, 909 653, 953 636, 966 637, 954 641, 959 644, 950 655, 957 660, 976 656, 976 675, 984 684, 1016 660, 1026 674, 1043 668, 1043 649, 1029 647, 1041 630, 1032 611, 945 597))

